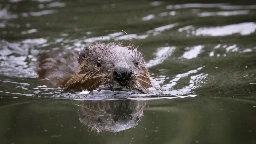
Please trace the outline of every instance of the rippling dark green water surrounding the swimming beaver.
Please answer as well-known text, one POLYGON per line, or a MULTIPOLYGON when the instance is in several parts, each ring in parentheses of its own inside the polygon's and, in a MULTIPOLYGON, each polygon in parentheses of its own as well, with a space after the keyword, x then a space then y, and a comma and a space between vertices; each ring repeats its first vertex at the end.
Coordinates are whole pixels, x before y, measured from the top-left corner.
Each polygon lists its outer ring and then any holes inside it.
POLYGON ((256 143, 255 30, 249 0, 1 1, 0 143, 256 143), (67 93, 37 78, 41 51, 98 41, 138 46, 161 90, 67 93))

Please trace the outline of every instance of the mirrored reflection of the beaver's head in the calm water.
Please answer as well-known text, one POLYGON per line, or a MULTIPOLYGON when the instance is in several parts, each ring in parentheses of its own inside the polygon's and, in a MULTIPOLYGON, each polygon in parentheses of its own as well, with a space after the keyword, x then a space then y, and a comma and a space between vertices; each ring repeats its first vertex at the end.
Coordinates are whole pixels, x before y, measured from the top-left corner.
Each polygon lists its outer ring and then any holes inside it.
POLYGON ((82 101, 78 115, 94 131, 120 132, 138 124, 145 105, 134 100, 82 101))

